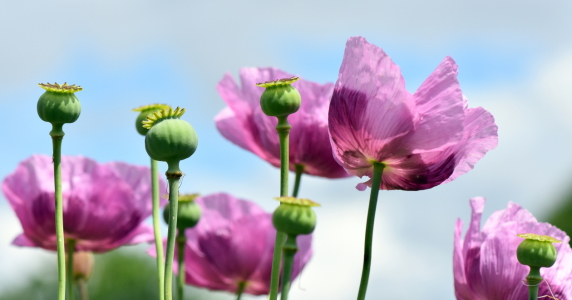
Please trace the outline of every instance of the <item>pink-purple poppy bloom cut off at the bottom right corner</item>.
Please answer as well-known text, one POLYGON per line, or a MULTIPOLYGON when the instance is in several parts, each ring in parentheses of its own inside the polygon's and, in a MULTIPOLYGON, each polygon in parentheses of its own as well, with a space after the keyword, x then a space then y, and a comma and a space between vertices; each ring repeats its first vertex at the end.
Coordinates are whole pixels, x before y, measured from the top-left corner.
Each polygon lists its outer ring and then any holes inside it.
POLYGON ((520 300, 528 299, 528 287, 522 280, 529 267, 516 259, 516 248, 523 241, 521 233, 549 235, 562 243, 554 244, 558 259, 550 268, 541 268, 545 282, 539 286, 539 296, 572 299, 572 250, 570 238, 562 230, 539 223, 518 204, 509 202, 505 210, 494 212, 481 229, 485 199, 471 199, 471 223, 461 238, 463 222, 455 225, 453 270, 455 295, 459 300, 520 300), (548 285, 552 293, 548 289, 548 285))

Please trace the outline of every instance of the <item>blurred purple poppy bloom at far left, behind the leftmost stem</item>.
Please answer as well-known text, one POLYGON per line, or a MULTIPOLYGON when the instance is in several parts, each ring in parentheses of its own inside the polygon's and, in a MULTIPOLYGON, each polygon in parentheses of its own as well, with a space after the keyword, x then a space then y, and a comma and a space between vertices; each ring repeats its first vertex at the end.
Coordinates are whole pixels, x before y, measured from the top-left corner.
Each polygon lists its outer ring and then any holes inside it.
MULTIPOLYGON (((149 168, 122 162, 98 164, 62 157, 64 233, 76 251, 109 251, 153 240, 143 220, 151 214, 149 168)), ((160 181, 161 190, 165 183, 160 181)), ((22 223, 13 244, 56 250, 52 158, 34 155, 2 183, 2 191, 22 223)))

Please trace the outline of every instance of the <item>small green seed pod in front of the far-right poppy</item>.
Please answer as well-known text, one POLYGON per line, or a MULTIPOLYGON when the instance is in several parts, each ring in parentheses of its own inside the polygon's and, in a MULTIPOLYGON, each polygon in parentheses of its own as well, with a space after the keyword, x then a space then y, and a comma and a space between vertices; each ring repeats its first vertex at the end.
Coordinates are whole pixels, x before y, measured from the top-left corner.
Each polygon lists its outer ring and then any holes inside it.
POLYGON ((557 253, 552 243, 562 243, 562 241, 533 233, 517 234, 517 236, 525 238, 516 249, 516 258, 521 264, 537 268, 554 265, 557 253))

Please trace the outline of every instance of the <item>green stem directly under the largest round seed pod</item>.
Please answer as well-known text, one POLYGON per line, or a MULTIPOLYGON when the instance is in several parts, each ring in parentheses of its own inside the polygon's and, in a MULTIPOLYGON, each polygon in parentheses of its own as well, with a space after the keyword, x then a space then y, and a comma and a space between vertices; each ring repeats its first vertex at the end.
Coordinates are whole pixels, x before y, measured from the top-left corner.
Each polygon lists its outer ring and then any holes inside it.
MULTIPOLYGON (((171 169, 171 168, 169 168, 171 169)), ((165 300, 173 299, 173 257, 175 256, 175 235, 179 210, 179 179, 181 172, 167 171, 169 182, 169 231, 167 233, 167 258, 165 261, 165 300)))

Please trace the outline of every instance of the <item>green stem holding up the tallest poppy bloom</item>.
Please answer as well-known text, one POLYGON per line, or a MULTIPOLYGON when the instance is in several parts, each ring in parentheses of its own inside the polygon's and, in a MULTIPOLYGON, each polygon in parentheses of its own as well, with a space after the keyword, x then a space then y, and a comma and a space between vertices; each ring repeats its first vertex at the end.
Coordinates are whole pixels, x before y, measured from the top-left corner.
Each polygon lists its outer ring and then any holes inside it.
POLYGON ((377 206, 377 196, 381 185, 381 175, 385 164, 380 162, 373 163, 373 180, 371 183, 371 194, 369 197, 369 207, 367 210, 367 223, 365 227, 365 247, 363 253, 363 269, 361 272, 361 281, 359 285, 358 300, 365 299, 367 292, 367 283, 369 280, 369 271, 371 268, 371 244, 373 240, 373 223, 375 221, 375 208, 377 206))

